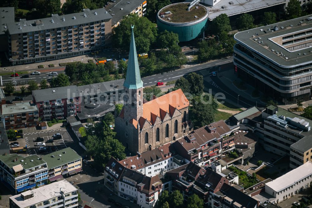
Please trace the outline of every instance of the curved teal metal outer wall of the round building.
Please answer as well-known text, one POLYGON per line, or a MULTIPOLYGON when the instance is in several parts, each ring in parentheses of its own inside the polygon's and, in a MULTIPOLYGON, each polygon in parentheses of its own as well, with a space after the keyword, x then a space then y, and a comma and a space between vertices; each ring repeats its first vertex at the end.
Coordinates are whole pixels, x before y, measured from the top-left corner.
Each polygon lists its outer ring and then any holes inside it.
POLYGON ((202 34, 206 28, 208 18, 203 19, 201 22, 193 25, 174 26, 161 22, 157 18, 157 27, 160 32, 167 30, 179 35, 179 41, 190 41, 202 34))

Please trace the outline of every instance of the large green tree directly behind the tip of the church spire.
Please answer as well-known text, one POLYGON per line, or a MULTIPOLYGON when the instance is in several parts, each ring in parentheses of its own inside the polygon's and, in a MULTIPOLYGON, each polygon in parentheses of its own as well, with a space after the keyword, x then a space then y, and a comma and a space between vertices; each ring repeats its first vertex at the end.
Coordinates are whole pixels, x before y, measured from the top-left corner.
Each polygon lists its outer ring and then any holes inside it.
POLYGON ((113 43, 115 47, 129 51, 131 25, 134 25, 135 45, 138 53, 148 52, 149 47, 156 42, 157 30, 146 17, 130 14, 124 17, 113 30, 113 43))

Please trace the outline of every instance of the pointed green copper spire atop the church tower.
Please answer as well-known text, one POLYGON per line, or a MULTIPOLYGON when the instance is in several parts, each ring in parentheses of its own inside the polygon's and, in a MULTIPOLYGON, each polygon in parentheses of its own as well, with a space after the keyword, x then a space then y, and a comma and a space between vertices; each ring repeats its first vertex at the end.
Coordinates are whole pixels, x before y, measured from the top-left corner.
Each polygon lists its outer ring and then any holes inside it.
POLYGON ((127 76, 124 81, 124 87, 128 89, 139 89, 143 87, 143 82, 141 80, 138 55, 136 52, 134 34, 133 34, 134 25, 131 25, 131 41, 130 41, 130 51, 129 51, 129 60, 127 68, 127 76))

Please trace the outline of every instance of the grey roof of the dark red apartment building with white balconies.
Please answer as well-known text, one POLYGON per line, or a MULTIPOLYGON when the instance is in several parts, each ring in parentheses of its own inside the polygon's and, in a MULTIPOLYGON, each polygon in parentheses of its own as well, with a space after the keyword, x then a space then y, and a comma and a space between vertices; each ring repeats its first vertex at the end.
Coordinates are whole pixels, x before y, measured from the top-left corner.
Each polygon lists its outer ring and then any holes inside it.
POLYGON ((34 90, 32 91, 32 96, 35 98, 36 102, 41 102, 79 97, 79 91, 76 85, 71 85, 67 87, 34 90))

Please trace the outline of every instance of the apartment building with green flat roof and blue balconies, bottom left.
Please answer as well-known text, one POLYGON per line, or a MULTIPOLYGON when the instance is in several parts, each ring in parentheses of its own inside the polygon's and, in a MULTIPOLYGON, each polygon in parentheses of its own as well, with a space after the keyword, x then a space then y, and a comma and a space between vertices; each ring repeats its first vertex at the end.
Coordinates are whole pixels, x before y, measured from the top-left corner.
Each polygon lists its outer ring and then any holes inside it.
POLYGON ((37 155, 0 155, 0 181, 11 191, 21 192, 48 179, 46 162, 37 155))

